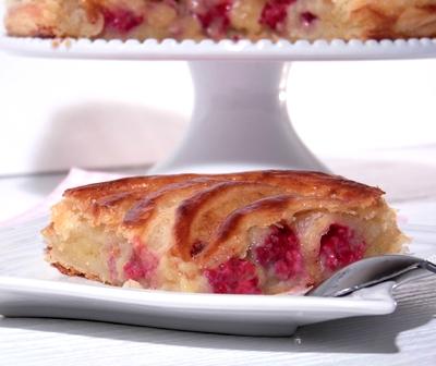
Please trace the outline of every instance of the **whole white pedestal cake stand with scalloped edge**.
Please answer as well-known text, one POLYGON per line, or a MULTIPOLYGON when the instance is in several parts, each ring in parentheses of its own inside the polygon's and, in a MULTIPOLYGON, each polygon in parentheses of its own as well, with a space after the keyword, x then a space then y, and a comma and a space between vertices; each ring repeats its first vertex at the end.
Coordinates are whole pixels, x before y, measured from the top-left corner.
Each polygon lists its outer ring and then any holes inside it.
POLYGON ((290 61, 436 57, 435 39, 315 42, 223 40, 48 40, 0 38, 0 48, 48 58, 186 60, 195 85, 191 124, 173 155, 153 173, 326 168, 288 117, 290 61))

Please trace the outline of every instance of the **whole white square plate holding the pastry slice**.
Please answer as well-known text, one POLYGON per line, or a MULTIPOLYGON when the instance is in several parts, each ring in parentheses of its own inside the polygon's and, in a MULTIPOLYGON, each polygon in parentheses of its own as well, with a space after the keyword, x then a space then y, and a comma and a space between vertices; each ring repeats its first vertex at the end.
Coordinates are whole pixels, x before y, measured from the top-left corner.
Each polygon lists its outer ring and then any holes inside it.
MULTIPOLYGON (((100 320, 246 335, 290 335, 296 327, 353 316, 390 314, 392 282, 343 298, 189 294, 120 289, 60 274, 43 259, 39 218, 0 229, 0 314, 100 320)), ((411 252, 434 253, 432 231, 411 233, 411 252)))

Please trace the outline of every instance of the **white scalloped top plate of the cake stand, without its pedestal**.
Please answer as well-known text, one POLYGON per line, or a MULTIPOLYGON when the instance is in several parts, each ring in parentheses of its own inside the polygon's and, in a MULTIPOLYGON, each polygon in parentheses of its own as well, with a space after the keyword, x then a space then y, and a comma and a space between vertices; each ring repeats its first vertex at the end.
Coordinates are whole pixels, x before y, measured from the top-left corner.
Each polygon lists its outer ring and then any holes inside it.
POLYGON ((27 57, 116 60, 241 60, 327 61, 395 60, 436 58, 436 38, 383 40, 288 40, 258 41, 210 39, 87 39, 33 38, 0 35, 0 49, 27 57))

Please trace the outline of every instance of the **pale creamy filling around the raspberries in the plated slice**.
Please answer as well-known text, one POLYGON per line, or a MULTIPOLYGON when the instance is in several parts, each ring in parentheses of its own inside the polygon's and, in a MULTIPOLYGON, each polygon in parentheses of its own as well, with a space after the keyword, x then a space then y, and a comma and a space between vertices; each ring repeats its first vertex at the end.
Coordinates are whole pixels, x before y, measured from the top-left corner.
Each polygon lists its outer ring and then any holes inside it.
MULTIPOLYGON (((102 282, 116 285, 132 281, 124 270, 133 255, 132 240, 107 231, 102 225, 89 227, 78 215, 73 211, 68 212, 64 213, 68 217, 56 220, 58 227, 50 227, 45 232, 50 242, 48 260, 65 269, 87 273, 89 278, 98 278, 102 282), (62 236, 58 233, 62 233, 62 236)), ((167 219, 162 218, 161 223, 167 219)), ((252 228, 245 258, 256 264, 263 293, 287 292, 293 286, 301 288, 322 280, 323 273, 320 273, 318 260, 320 240, 331 224, 350 228, 356 236, 365 241, 367 245, 365 256, 398 253, 405 241, 405 237, 399 235, 396 215, 392 210, 379 210, 360 216, 323 210, 308 211, 291 217, 286 224, 294 231, 299 240, 305 270, 295 278, 281 280, 271 271, 258 266, 253 253, 256 247, 265 243, 270 234, 270 228, 252 228)), ((169 237, 167 231, 170 227, 170 222, 154 225, 159 229, 149 232, 148 243, 142 242, 142 245, 158 258, 157 268, 153 273, 153 286, 170 291, 210 292, 207 279, 195 260, 186 263, 170 254, 171 243, 164 240, 169 237)), ((136 282, 145 288, 150 283, 141 280, 136 282)))

